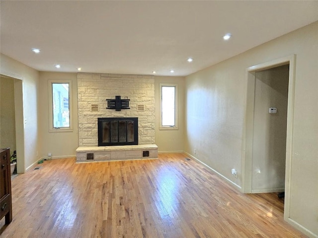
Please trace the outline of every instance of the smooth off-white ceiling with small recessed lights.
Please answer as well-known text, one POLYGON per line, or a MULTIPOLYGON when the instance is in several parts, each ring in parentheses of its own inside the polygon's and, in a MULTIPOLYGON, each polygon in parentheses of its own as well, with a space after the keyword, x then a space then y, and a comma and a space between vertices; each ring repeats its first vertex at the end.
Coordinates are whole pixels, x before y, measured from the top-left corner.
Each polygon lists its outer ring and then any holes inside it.
POLYGON ((1 53, 39 71, 186 76, 317 21, 318 1, 1 0, 0 20, 1 53))

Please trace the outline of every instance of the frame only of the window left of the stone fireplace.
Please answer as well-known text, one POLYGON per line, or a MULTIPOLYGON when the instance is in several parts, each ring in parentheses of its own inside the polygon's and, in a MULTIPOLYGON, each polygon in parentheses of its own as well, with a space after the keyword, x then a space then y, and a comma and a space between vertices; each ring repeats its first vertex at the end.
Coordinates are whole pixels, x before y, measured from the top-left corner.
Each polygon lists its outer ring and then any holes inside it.
POLYGON ((72 110, 72 80, 49 80, 49 132, 71 132, 73 131, 73 110, 72 110), (70 107, 70 127, 53 127, 53 83, 69 84, 69 107, 70 107))

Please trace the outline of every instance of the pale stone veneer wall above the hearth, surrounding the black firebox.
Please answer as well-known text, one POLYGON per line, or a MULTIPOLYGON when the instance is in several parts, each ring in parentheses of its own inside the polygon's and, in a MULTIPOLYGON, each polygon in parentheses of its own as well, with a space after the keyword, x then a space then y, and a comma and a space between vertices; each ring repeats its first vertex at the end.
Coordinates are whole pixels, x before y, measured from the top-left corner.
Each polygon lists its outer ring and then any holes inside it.
POLYGON ((155 78, 149 75, 78 74, 79 146, 97 146, 98 117, 138 117, 140 145, 155 144, 155 78), (130 99, 130 109, 106 109, 106 99, 130 99), (91 111, 98 104, 98 111, 91 111), (137 111, 137 105, 145 111, 137 111))

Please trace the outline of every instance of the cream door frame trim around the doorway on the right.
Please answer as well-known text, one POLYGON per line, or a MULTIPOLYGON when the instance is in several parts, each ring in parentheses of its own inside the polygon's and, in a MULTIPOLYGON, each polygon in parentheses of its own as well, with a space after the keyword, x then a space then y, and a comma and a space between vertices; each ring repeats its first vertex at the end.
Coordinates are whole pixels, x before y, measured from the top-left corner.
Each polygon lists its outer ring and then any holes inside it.
POLYGON ((254 121, 254 96, 255 72, 268 70, 289 64, 288 105, 287 105, 287 133, 286 133, 286 171, 285 171, 285 206, 284 219, 290 214, 290 186, 291 186, 291 160, 294 121, 294 91, 295 91, 295 64, 296 55, 290 55, 246 69, 247 93, 245 104, 245 119, 242 133, 242 188, 244 193, 252 190, 252 151, 253 151, 253 121, 254 121))

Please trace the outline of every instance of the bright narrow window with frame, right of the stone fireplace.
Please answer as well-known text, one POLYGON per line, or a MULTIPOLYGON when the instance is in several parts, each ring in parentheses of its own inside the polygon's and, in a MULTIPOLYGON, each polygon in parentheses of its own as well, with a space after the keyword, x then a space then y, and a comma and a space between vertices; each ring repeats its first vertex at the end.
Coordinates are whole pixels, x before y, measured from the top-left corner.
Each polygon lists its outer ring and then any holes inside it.
POLYGON ((177 84, 160 83, 160 129, 178 129, 177 84))

